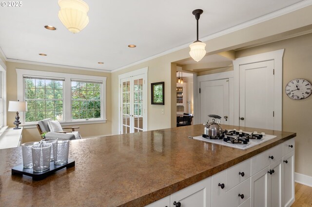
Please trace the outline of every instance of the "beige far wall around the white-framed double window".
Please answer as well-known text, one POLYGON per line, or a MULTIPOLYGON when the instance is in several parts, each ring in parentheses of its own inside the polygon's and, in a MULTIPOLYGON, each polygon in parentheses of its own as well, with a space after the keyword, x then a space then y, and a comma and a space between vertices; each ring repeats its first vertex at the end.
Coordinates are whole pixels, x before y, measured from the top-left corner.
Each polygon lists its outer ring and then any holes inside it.
MULTIPOLYGON (((93 137, 100 135, 110 135, 112 132, 112 113, 111 113, 111 73, 86 71, 70 68, 51 67, 36 64, 26 64, 18 62, 6 62, 6 95, 7 105, 9 101, 17 100, 17 73, 16 68, 29 69, 38 71, 50 71, 50 72, 61 72, 61 73, 72 73, 80 75, 91 75, 91 76, 105 76, 106 80, 106 123, 101 124, 79 124, 79 132, 82 137, 93 137)), ((40 72, 38 72, 40 75, 40 72)), ((22 90, 21 88, 19 90, 22 90)), ((7 125, 14 126, 14 112, 7 112, 7 125)), ((40 135, 37 128, 25 128, 23 129, 23 143, 39 140, 40 135)))

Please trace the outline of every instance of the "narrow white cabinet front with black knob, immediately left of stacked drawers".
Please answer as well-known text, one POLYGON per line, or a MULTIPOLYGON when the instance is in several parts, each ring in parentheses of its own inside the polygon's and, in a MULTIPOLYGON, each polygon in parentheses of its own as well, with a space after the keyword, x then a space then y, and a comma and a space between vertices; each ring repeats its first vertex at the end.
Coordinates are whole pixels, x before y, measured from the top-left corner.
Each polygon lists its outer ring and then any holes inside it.
POLYGON ((227 187, 225 181, 226 181, 226 170, 223 170, 211 177, 212 207, 225 207, 225 189, 227 187), (222 185, 224 185, 224 187, 222 185))

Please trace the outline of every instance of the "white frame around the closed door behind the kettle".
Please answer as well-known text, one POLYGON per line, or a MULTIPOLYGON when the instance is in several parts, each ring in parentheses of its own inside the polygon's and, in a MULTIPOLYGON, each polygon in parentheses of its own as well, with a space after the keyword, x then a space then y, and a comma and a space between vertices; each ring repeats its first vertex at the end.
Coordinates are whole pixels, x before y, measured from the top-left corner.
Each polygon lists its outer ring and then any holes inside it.
MULTIPOLYGON (((204 76, 194 76, 194 123, 200 123, 200 82, 215 81, 222 79, 229 79, 229 124, 234 123, 234 103, 233 103, 233 85, 234 85, 234 71, 227 71, 222 73, 209 74, 204 76), (196 83, 196 84, 195 84, 196 83)), ((208 120, 207 120, 208 121, 208 120)))

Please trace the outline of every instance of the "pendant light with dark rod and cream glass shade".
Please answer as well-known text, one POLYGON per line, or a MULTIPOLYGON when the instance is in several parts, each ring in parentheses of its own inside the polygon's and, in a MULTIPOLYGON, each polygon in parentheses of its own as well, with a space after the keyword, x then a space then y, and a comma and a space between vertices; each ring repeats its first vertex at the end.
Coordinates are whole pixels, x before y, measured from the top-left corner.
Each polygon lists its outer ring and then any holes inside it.
POLYGON ((197 40, 190 44, 190 56, 196 61, 200 61, 205 55, 206 55, 206 43, 198 40, 198 20, 200 18, 200 15, 203 13, 203 10, 201 9, 195 9, 193 12, 193 15, 195 15, 195 19, 197 21, 197 40))

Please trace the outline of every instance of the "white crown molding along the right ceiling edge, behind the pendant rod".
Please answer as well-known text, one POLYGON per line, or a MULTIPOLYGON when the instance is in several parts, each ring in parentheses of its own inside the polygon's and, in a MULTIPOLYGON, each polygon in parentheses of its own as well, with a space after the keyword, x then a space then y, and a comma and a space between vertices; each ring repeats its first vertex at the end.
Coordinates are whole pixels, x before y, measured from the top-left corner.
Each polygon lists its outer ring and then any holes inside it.
MULTIPOLYGON (((270 14, 264 15, 262 17, 256 18, 256 19, 251 20, 251 21, 246 21, 244 23, 238 24, 236 26, 230 27, 230 28, 222 30, 220 32, 216 32, 216 33, 214 33, 212 35, 209 35, 209 36, 206 36, 206 37, 203 37, 203 38, 200 38, 200 39, 201 39, 201 41, 209 41, 209 40, 215 39, 217 37, 220 37, 220 36, 223 36, 223 35, 227 35, 229 33, 232 33, 232 32, 235 32, 235 31, 238 31, 238 30, 250 27, 250 26, 253 26, 255 24, 258 24, 258 23, 261 23, 261 22, 264 22, 264 21, 268 21, 268 20, 274 19, 276 17, 279 17, 279 16, 282 16, 282 15, 291 13, 293 11, 296 11, 298 9, 302 9, 302 8, 310 6, 310 5, 312 5, 312 0, 303 0, 303 1, 300 1, 298 3, 292 4, 291 6, 285 7, 283 9, 277 10, 275 12, 272 12, 270 14)), ((185 49, 185 48, 189 47, 190 43, 192 43, 192 42, 180 45, 178 47, 174 47, 174 48, 172 48, 170 50, 166 50, 166 51, 164 51, 162 53, 156 54, 156 55, 151 56, 149 58, 146 58, 146 59, 143 59, 143 60, 140 60, 140 61, 137 61, 137 62, 133 62, 133 63, 128 64, 128 65, 122 66, 120 68, 112 70, 112 73, 117 72, 119 70, 126 69, 126 68, 134 66, 134 65, 137 65, 137 64, 142 63, 142 62, 153 60, 155 58, 158 58, 158 57, 163 56, 163 55, 167 55, 167 54, 172 53, 172 52, 176 52, 176 51, 181 50, 181 49, 185 49)))

